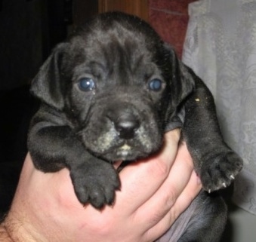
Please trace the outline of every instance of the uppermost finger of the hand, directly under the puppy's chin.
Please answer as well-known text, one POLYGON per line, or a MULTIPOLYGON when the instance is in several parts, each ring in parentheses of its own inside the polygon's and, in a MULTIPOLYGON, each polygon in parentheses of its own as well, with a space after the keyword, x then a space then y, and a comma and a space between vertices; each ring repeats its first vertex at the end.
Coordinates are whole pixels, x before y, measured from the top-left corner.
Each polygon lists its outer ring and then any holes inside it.
POLYGON ((115 206, 127 204, 128 212, 133 213, 158 190, 171 169, 179 139, 180 130, 166 133, 164 147, 158 155, 130 164, 122 170, 122 188, 116 194, 115 206))

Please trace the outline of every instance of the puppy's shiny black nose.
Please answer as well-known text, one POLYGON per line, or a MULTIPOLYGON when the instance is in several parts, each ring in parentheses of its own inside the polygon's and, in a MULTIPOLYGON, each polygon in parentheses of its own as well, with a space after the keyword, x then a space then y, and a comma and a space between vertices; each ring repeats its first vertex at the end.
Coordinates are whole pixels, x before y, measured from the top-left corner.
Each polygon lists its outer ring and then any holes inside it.
POLYGON ((114 124, 122 139, 132 139, 135 131, 140 127, 140 122, 133 115, 121 116, 114 124))

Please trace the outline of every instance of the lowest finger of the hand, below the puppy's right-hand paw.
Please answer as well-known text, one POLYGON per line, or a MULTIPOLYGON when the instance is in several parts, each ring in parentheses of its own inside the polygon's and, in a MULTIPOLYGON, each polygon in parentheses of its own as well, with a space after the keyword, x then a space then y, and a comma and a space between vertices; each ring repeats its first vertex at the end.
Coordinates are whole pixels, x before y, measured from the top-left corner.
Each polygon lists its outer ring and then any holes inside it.
POLYGON ((196 198, 196 195, 201 191, 202 185, 199 181, 199 177, 196 175, 196 172, 193 171, 190 177, 190 181, 188 185, 182 191, 177 201, 174 203, 173 207, 166 213, 166 215, 152 228, 150 228, 145 237, 147 237, 147 241, 156 240, 162 234, 165 234, 171 225, 175 222, 178 216, 183 213, 187 207, 190 206, 192 201, 196 198))

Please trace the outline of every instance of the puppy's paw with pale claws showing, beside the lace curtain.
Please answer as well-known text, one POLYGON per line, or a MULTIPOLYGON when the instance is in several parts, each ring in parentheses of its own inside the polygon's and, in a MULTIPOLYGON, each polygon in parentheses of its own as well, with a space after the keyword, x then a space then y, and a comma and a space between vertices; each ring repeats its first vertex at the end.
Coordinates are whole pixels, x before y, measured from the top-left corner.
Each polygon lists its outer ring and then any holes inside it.
POLYGON ((202 187, 208 192, 226 188, 241 169, 242 159, 236 153, 221 152, 202 165, 202 187))

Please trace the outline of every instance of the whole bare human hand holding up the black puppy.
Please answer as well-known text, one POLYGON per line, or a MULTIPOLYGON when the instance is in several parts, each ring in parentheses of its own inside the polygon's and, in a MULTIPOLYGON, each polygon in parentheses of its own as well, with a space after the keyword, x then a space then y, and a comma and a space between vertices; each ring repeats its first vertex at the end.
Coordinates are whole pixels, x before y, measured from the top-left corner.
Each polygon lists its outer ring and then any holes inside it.
POLYGON ((156 240, 201 188, 179 139, 179 130, 168 132, 158 155, 125 167, 115 204, 103 210, 79 203, 69 170, 42 173, 27 155, 5 228, 14 241, 156 240))

